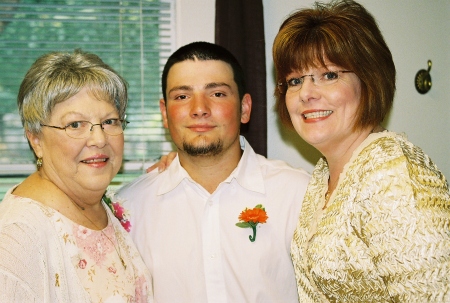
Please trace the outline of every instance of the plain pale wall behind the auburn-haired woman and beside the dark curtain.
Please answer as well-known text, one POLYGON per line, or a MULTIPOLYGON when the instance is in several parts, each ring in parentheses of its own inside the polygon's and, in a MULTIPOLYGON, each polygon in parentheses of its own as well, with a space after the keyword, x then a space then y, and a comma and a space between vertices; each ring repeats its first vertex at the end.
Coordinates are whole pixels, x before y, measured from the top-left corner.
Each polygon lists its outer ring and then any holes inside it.
MULTIPOLYGON (((178 46, 191 41, 214 42, 214 1, 177 0, 178 46), (184 1, 184 6, 183 2, 184 1), (180 9, 181 8, 181 9, 180 9)), ((268 87, 268 156, 312 171, 319 153, 277 122, 274 104, 272 42, 284 18, 311 0, 263 0, 268 87)), ((450 1, 360 0, 375 16, 397 67, 397 94, 385 127, 405 132, 450 178, 450 1), (433 86, 420 95, 414 88, 418 70, 431 59, 433 86)))

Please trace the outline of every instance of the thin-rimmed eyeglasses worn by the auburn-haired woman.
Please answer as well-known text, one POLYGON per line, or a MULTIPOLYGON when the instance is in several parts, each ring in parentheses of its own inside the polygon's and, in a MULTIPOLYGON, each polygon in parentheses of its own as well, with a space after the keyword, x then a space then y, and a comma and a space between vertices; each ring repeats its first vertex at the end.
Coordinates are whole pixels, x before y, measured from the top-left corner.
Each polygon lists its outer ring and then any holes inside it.
POLYGON ((300 88, 302 88, 306 77, 311 77, 311 80, 313 81, 314 85, 317 86, 330 85, 336 83, 339 80, 341 73, 353 73, 353 72, 349 70, 326 71, 319 76, 304 75, 298 78, 291 78, 286 82, 279 82, 277 85, 278 91, 281 94, 290 94, 298 92, 300 88))

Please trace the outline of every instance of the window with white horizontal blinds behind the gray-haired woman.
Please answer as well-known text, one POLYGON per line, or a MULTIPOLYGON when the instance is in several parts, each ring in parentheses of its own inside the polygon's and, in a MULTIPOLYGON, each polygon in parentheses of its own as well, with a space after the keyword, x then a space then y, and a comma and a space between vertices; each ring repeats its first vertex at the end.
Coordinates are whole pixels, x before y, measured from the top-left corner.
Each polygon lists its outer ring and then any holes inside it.
POLYGON ((16 98, 31 64, 50 51, 93 52, 128 81, 125 170, 145 169, 173 150, 158 100, 162 67, 174 50, 174 1, 1 1, 0 174, 35 170, 16 98))

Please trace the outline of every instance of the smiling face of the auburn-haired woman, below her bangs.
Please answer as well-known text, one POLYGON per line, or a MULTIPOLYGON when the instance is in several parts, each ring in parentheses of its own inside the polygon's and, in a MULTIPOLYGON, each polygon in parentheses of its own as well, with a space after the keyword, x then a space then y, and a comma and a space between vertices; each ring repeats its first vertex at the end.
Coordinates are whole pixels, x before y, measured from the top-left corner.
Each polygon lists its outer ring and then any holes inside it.
MULTIPOLYGON (((293 72, 286 80, 304 75, 314 75, 313 78, 318 79, 328 71, 342 70, 345 69, 328 64, 326 68, 293 72)), ((325 80, 335 75, 331 74, 330 77, 330 74, 326 74, 325 80)), ((330 81, 331 84, 324 81, 324 86, 316 85, 311 77, 306 76, 297 92, 286 93, 286 106, 295 130, 322 153, 345 144, 354 135, 353 126, 360 104, 359 78, 352 72, 337 75, 337 81, 330 81)))

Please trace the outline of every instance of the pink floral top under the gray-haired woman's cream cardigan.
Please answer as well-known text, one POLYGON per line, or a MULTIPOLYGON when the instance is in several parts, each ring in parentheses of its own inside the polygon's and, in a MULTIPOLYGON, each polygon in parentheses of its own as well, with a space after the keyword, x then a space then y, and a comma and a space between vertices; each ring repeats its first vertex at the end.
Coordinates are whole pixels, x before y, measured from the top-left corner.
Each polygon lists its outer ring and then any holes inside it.
POLYGON ((54 216, 65 226, 71 226, 60 230, 61 237, 69 251, 74 253, 71 258, 73 266, 93 302, 111 299, 116 300, 114 302, 119 299, 119 302, 147 302, 147 281, 144 275, 135 274, 130 248, 122 235, 116 232, 117 227, 110 218, 106 228, 92 230, 59 213, 54 216))

